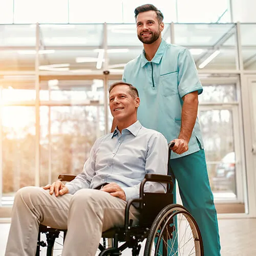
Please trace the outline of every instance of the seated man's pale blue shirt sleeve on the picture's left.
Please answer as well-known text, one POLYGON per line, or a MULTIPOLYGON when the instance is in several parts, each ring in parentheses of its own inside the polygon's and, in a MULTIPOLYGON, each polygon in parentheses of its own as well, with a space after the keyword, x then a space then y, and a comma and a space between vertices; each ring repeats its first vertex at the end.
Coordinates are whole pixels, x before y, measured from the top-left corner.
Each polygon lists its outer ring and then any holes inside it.
POLYGON ((95 175, 95 148, 97 141, 91 148, 90 157, 83 165, 82 173, 77 175, 74 180, 69 182, 66 186, 69 189, 70 194, 75 194, 75 192, 81 188, 89 188, 92 178, 95 175))

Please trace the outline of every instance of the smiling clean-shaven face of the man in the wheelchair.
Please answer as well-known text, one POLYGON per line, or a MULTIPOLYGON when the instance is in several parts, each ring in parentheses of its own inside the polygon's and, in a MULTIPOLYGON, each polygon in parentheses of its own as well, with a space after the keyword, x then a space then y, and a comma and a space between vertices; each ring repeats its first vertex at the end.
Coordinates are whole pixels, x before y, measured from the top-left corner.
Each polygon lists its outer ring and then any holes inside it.
POLYGON ((118 126, 122 123, 122 126, 128 127, 136 122, 140 99, 132 96, 129 86, 115 86, 110 92, 109 100, 111 114, 117 120, 118 126))

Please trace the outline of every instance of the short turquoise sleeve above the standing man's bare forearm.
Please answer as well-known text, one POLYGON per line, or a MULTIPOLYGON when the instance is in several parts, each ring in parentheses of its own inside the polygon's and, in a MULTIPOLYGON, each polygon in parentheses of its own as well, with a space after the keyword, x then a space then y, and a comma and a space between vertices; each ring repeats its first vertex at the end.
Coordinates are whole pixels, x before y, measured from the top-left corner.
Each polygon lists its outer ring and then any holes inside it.
POLYGON ((178 55, 178 91, 181 98, 191 92, 203 92, 195 61, 186 48, 178 55))

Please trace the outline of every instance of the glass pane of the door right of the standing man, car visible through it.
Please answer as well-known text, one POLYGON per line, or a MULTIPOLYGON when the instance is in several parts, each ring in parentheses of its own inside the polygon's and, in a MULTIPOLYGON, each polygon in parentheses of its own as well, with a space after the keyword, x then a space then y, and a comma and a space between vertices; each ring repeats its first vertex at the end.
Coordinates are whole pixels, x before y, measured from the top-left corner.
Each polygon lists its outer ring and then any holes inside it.
POLYGON ((211 189, 215 198, 237 197, 232 110, 199 112, 211 189), (218 192, 225 194, 218 194, 218 192))

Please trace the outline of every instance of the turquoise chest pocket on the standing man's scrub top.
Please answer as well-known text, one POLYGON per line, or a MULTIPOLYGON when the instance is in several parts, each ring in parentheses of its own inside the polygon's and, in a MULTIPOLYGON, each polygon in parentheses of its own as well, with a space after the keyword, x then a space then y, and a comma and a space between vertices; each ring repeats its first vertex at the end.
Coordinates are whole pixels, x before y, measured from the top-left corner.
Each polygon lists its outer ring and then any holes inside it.
POLYGON ((164 97, 178 94, 178 72, 160 75, 161 93, 164 97))

